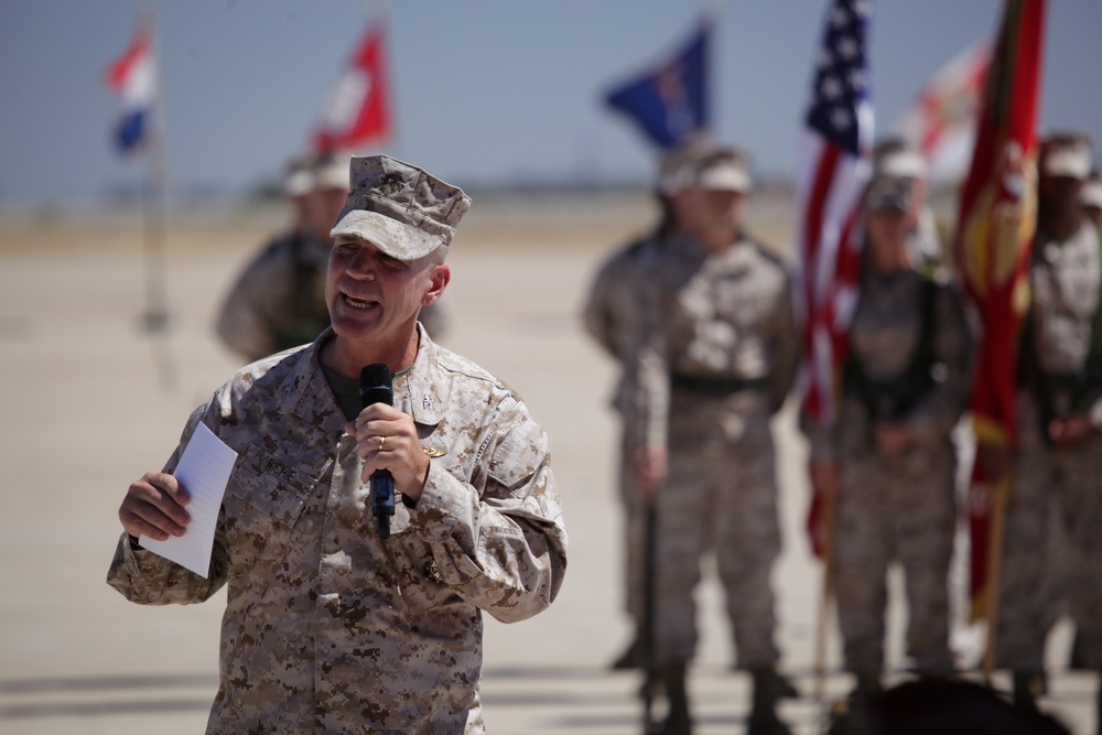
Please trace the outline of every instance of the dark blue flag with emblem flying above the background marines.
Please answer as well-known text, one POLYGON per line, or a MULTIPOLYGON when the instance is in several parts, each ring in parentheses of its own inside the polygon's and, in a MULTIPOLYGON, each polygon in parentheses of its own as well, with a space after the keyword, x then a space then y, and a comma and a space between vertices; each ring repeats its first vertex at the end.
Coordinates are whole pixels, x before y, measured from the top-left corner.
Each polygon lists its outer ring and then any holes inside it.
POLYGON ((711 30, 709 20, 701 21, 683 46, 605 96, 613 109, 638 123, 647 138, 661 149, 673 148, 707 129, 711 30))

